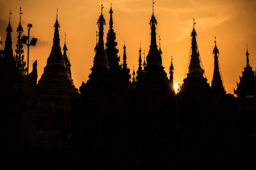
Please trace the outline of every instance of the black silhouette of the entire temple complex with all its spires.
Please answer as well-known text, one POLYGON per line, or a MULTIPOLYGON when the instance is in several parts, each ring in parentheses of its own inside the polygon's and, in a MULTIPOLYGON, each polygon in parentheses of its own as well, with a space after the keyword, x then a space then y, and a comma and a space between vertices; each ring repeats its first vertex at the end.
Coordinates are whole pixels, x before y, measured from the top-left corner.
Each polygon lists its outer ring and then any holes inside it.
MULTIPOLYGON (((20 8, 20 20, 21 14, 20 8)), ((75 87, 66 34, 61 51, 58 11, 51 53, 38 82, 36 60, 31 73, 24 61, 21 22, 17 42, 12 40, 10 13, 4 50, 0 50, 4 155, 19 158, 18 162, 28 155, 33 164, 90 169, 255 167, 256 75, 248 48, 246 66, 234 88, 236 96, 227 94, 216 38, 211 85, 204 75, 194 20, 188 73, 176 94, 175 60, 170 60, 168 77, 160 37, 157 46, 154 2, 150 48, 141 56, 138 46, 137 70, 127 67, 129 46, 124 43, 123 52, 117 48, 112 6, 109 15, 104 41, 106 20, 101 6, 92 72, 75 87)))

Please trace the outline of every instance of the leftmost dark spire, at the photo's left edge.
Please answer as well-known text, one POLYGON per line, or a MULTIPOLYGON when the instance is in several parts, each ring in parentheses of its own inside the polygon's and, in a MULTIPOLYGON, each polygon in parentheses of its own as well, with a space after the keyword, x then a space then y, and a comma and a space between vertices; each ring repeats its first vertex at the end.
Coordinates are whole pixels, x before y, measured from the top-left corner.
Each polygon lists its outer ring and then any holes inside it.
POLYGON ((6 39, 5 39, 5 46, 4 46, 4 57, 13 59, 11 15, 12 15, 12 12, 10 10, 10 13, 9 13, 9 24, 8 24, 8 26, 6 28, 6 39))

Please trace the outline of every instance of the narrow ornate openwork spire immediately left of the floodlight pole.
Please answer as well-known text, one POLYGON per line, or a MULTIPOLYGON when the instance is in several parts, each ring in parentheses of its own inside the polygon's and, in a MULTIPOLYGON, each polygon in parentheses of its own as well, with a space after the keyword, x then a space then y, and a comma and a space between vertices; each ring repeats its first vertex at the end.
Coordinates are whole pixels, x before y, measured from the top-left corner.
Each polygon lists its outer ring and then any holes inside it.
POLYGON ((23 45, 22 45, 22 40, 21 40, 21 34, 23 32, 23 28, 21 26, 21 8, 20 8, 20 23, 19 26, 17 27, 17 32, 18 32, 18 40, 17 40, 17 48, 15 50, 16 52, 16 56, 15 56, 15 60, 16 60, 16 66, 17 66, 17 74, 19 75, 25 75, 27 72, 26 69, 26 62, 24 61, 24 50, 23 50, 23 45))

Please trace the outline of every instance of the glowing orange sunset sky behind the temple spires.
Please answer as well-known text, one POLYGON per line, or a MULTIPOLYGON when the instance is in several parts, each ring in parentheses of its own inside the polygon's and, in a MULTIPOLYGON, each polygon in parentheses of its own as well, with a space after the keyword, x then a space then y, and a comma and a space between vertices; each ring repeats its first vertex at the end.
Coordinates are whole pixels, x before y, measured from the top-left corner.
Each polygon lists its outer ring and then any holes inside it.
MULTIPOLYGON (((67 47, 70 52, 72 78, 77 88, 88 80, 93 66, 95 31, 100 15, 100 4, 107 25, 104 27, 104 41, 108 31, 110 2, 107 0, 0 0, 0 36, 5 40, 9 10, 12 10, 11 24, 16 31, 19 24, 19 7, 22 7, 22 26, 33 24, 31 36, 38 38, 36 47, 29 50, 29 71, 38 60, 38 80, 46 66, 51 52, 56 8, 60 22, 61 46, 67 32, 67 47)), ((150 45, 149 20, 152 14, 151 0, 112 0, 114 30, 118 41, 119 55, 123 55, 124 41, 127 47, 127 62, 131 68, 138 67, 141 50, 147 55, 150 45)), ((168 73, 173 56, 175 68, 174 83, 182 83, 188 64, 191 46, 193 18, 196 20, 198 48, 208 82, 211 84, 213 72, 214 36, 220 50, 220 67, 225 89, 232 93, 243 67, 246 65, 246 43, 250 53, 250 64, 256 66, 256 1, 253 0, 156 0, 154 13, 157 18, 157 37, 161 36, 162 59, 168 73)), ((13 41, 17 38, 13 32, 13 41)), ((157 42, 159 40, 157 39, 157 42)), ((13 50, 15 44, 13 43, 13 50)), ((27 56, 27 47, 24 47, 27 56)))

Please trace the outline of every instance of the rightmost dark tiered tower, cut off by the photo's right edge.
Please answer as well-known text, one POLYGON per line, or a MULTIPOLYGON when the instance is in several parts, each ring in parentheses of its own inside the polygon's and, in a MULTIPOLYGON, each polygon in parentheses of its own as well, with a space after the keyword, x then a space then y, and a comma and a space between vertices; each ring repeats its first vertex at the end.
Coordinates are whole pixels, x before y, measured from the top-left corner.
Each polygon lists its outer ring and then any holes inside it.
POLYGON ((252 101, 256 99, 256 79, 255 72, 252 70, 249 62, 248 46, 246 51, 246 67, 242 71, 242 76, 239 77, 240 82, 237 83, 237 89, 234 89, 234 94, 237 95, 239 101, 252 101))

